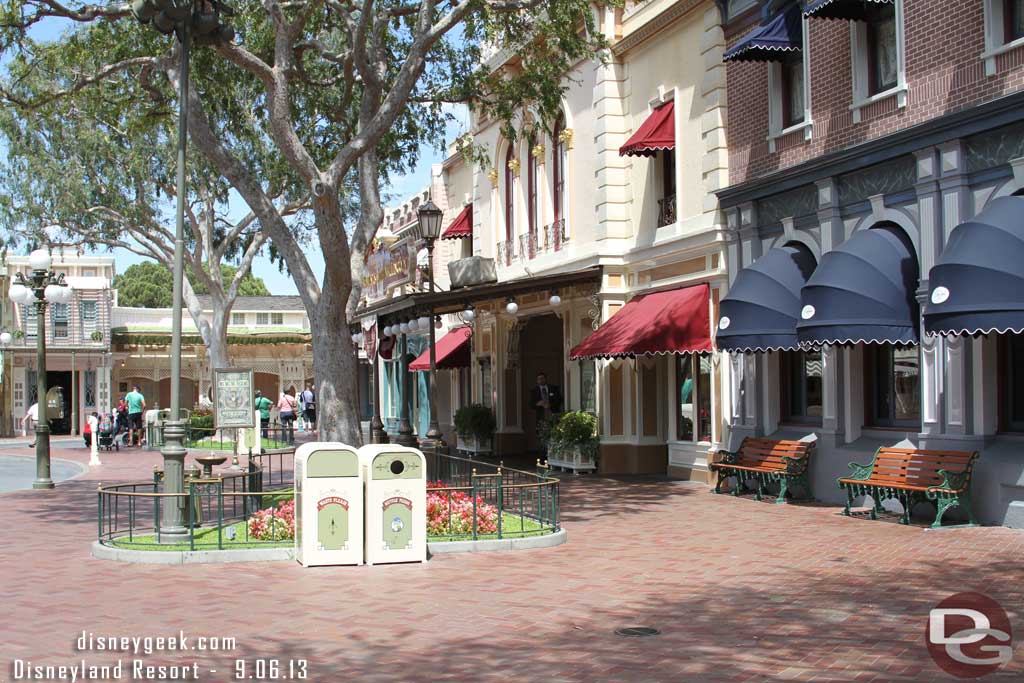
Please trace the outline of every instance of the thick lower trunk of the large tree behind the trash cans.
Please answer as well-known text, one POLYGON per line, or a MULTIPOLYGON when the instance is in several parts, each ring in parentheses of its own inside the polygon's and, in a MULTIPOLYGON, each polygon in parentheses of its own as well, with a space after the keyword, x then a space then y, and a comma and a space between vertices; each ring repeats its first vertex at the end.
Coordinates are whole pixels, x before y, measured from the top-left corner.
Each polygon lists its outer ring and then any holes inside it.
POLYGON ((347 293, 327 289, 309 316, 319 439, 362 445, 356 385, 358 360, 345 319, 347 293))

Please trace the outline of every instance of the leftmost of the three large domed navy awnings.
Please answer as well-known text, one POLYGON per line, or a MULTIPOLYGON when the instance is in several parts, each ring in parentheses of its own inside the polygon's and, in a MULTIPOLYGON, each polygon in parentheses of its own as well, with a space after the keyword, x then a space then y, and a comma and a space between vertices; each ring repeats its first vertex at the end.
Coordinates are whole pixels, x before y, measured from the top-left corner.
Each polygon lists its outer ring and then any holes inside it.
POLYGON ((800 290, 814 271, 804 247, 772 249, 739 271, 722 299, 716 343, 724 351, 796 349, 800 290))

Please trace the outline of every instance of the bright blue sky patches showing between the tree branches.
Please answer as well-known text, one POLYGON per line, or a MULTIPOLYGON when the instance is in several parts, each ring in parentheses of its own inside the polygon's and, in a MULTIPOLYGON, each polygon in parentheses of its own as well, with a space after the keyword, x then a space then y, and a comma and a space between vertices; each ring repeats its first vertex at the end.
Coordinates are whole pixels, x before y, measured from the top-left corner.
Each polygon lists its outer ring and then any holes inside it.
MULTIPOLYGON (((33 29, 32 37, 37 40, 60 40, 60 34, 68 26, 68 23, 57 19, 44 22, 33 29)), ((390 182, 381 188, 385 207, 400 204, 407 198, 412 197, 430 184, 431 166, 443 161, 446 156, 447 144, 455 140, 460 133, 464 132, 468 125, 469 116, 465 106, 456 106, 450 111, 452 112, 454 121, 450 122, 445 131, 445 139, 441 141, 441 145, 439 147, 422 145, 415 168, 404 175, 391 178, 390 182)), ((0 154, 4 153, 3 143, 0 142, 0 154)), ((195 154, 196 151, 190 148, 189 155, 195 154)), ((246 213, 248 213, 248 207, 240 198, 234 197, 229 201, 228 214, 231 218, 241 218, 246 213)), ((168 215, 173 216, 173 212, 169 212, 168 215)), ((305 252, 310 267, 319 279, 324 273, 324 257, 321 254, 318 246, 310 245, 305 252)), ((103 251, 98 253, 110 253, 115 257, 117 272, 124 272, 132 264, 146 260, 124 249, 115 249, 113 252, 110 252, 104 248, 103 251)), ((271 294, 298 293, 295 283, 288 272, 282 272, 279 265, 271 263, 270 259, 266 256, 258 257, 253 262, 252 272, 263 280, 271 294)))

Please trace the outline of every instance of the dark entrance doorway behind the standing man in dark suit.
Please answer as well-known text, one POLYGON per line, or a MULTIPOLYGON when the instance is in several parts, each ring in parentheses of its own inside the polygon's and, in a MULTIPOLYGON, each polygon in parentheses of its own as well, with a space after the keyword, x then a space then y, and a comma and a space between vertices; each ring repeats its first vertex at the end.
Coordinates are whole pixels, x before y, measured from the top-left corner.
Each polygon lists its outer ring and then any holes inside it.
MULTIPOLYGON (((519 333, 520 392, 522 397, 522 428, 526 433, 526 451, 541 453, 543 447, 537 437, 537 413, 530 404, 530 390, 537 384, 540 373, 547 375, 548 384, 561 390, 565 397, 564 377, 565 347, 562 322, 557 315, 537 315, 526 318, 519 333)), ((565 407, 562 405, 562 410, 565 407)))

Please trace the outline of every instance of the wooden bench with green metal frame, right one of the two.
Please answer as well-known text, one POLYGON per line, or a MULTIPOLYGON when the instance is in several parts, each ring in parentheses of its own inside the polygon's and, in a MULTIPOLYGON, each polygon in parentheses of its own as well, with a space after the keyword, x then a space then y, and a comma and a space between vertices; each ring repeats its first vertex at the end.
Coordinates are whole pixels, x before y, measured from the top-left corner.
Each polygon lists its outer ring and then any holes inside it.
POLYGON ((879 449, 870 464, 850 463, 850 475, 836 480, 846 489, 843 514, 850 514, 854 497, 869 496, 874 501, 870 517, 878 519, 882 501, 890 499, 903 506, 900 523, 909 524, 910 510, 928 500, 936 508, 932 528, 942 526, 942 516, 954 505, 966 510, 970 523, 976 524, 971 511, 971 472, 976 460, 977 452, 879 449))

